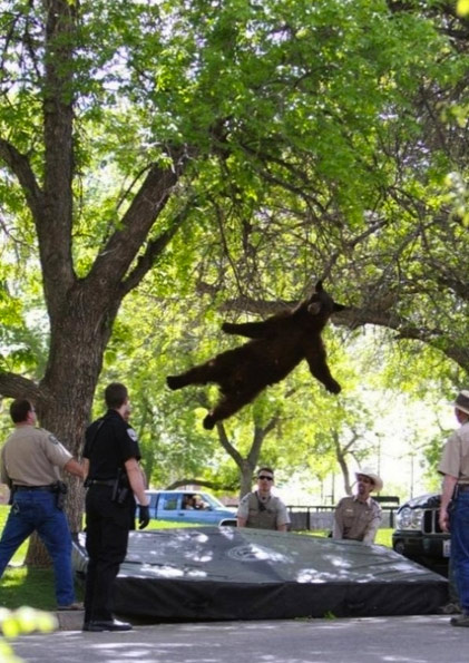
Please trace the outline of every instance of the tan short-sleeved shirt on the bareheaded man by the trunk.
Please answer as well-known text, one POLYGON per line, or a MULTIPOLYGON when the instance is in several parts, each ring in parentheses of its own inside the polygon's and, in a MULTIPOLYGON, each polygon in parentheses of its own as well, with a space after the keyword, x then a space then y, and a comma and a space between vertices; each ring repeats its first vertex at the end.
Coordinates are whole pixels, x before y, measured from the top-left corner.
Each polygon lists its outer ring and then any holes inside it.
POLYGON ((60 479, 71 454, 43 428, 19 426, 1 449, 1 480, 48 486, 60 479))

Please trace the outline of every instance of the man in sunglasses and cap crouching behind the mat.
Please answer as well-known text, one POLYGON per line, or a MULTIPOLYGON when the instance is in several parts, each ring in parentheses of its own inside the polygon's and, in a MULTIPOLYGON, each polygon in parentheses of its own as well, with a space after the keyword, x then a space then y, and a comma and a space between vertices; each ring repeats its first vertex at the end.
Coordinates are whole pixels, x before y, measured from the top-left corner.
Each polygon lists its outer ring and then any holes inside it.
POLYGON ((276 529, 286 532, 290 517, 283 501, 272 495, 274 471, 270 467, 262 467, 257 471, 257 490, 243 497, 237 509, 238 527, 255 527, 257 529, 276 529))

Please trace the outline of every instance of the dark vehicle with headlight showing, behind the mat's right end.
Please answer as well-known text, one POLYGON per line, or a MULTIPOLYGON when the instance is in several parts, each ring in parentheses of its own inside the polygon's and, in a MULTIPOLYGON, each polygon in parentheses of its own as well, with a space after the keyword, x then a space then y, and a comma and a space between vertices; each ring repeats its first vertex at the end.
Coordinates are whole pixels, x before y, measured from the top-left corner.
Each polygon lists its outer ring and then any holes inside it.
POLYGON ((395 514, 392 547, 397 553, 448 577, 450 536, 438 523, 440 495, 428 494, 406 501, 395 514))

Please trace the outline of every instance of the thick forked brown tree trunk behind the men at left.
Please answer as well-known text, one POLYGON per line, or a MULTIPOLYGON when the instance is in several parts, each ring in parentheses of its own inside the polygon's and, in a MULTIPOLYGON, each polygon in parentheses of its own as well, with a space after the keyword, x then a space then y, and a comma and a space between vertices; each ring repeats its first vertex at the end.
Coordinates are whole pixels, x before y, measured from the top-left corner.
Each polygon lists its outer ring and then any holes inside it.
MULTIPOLYGON (((185 211, 152 240, 148 235, 165 208, 188 153, 175 153, 174 167, 149 164, 146 177, 114 232, 97 237, 98 253, 89 273, 77 279, 72 260, 74 223, 74 57, 78 6, 47 0, 45 8, 43 183, 27 157, 4 144, 2 155, 18 177, 39 242, 42 282, 50 320, 50 351, 39 386, 2 376, 2 393, 35 400, 40 425, 79 458, 102 357, 123 299, 136 287, 185 221, 185 211), (139 254, 138 261, 135 261, 139 254), (11 386, 7 386, 10 379, 11 386)), ((169 152, 169 148, 168 148, 169 152)), ((67 516, 81 529, 84 489, 69 486, 67 516)), ((28 562, 43 562, 32 539, 28 562)))

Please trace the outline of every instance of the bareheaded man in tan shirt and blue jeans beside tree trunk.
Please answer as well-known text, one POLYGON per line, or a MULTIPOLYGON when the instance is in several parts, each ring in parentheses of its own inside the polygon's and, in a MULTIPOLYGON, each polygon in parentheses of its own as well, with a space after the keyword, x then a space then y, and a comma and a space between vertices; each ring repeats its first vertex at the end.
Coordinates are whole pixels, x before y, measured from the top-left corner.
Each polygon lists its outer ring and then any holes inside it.
POLYGON ((80 610, 75 602, 71 536, 58 506, 60 470, 82 477, 81 466, 47 430, 36 428, 28 400, 11 403, 16 430, 1 449, 1 481, 12 491, 0 539, 0 577, 19 546, 36 530, 53 564, 58 610, 80 610))

